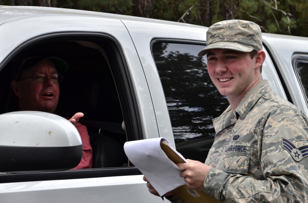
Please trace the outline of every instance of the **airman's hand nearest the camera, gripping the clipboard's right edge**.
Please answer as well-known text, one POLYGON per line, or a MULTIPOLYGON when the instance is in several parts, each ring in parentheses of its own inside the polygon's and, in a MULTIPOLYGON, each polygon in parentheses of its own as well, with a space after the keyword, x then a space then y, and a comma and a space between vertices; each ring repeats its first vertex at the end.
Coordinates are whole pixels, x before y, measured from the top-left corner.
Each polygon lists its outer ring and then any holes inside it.
POLYGON ((203 182, 211 167, 199 161, 190 159, 187 159, 187 161, 188 163, 176 164, 182 169, 180 177, 184 178, 189 188, 203 191, 203 182))

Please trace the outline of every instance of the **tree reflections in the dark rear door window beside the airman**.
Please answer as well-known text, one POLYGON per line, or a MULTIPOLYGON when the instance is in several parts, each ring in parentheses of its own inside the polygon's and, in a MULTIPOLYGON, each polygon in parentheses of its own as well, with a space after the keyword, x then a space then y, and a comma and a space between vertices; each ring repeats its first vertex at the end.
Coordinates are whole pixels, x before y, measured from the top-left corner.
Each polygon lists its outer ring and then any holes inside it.
POLYGON ((203 47, 156 43, 152 48, 176 143, 214 136, 212 119, 229 105, 211 82, 204 59, 197 56, 203 47))

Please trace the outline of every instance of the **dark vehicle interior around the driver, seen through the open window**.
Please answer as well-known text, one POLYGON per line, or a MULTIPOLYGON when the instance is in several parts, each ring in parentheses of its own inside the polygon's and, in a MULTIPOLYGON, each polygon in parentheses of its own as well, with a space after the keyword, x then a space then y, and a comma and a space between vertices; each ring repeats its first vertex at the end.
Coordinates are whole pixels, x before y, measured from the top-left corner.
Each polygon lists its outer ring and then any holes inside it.
MULTIPOLYGON (((60 98, 57 114, 72 117, 84 113, 79 122, 87 126, 93 150, 92 168, 128 166, 123 145, 128 140, 124 116, 112 64, 118 62, 114 48, 107 41, 48 39, 31 43, 19 49, 0 71, 0 113, 18 111, 18 101, 11 90, 14 68, 29 50, 59 52, 69 69, 61 73, 60 98), (112 57, 111 57, 112 56, 112 57), (10 77, 8 77, 10 75, 10 77)), ((119 66, 118 66, 119 67, 119 66)), ((125 92, 123 90, 120 90, 125 92)), ((127 103, 122 101, 124 107, 127 103)), ((132 134, 132 133, 128 133, 132 134)))

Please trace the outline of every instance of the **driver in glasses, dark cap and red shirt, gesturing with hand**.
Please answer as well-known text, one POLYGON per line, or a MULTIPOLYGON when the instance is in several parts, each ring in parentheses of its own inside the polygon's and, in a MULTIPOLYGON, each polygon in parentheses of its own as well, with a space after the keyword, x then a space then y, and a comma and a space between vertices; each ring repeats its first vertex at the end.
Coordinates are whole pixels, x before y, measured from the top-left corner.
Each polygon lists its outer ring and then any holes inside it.
MULTIPOLYGON (((67 63, 59 58, 57 52, 34 50, 26 54, 19 67, 12 89, 18 97, 20 111, 43 111, 56 114, 59 101, 59 82, 63 76, 58 73, 68 69, 67 63)), ((92 167, 92 148, 87 127, 78 123, 83 113, 76 113, 71 119, 81 136, 83 144, 82 159, 74 169, 92 167)))

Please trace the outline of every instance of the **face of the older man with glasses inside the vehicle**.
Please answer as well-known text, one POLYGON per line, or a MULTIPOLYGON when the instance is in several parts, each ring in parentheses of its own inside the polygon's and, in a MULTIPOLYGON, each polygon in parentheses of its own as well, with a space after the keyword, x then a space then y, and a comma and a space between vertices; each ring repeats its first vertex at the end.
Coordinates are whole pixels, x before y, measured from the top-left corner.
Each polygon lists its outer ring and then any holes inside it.
POLYGON ((34 82, 32 77, 20 82, 19 93, 15 93, 19 97, 19 108, 20 110, 55 113, 60 94, 59 83, 53 82, 48 75, 57 74, 57 69, 51 61, 44 60, 24 70, 20 79, 38 73, 47 75, 45 82, 34 82))

